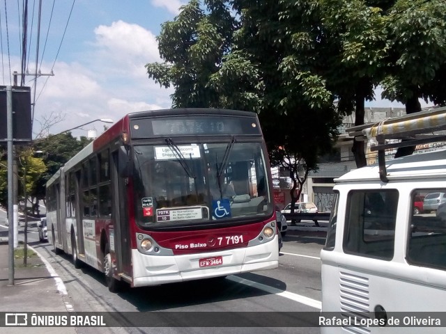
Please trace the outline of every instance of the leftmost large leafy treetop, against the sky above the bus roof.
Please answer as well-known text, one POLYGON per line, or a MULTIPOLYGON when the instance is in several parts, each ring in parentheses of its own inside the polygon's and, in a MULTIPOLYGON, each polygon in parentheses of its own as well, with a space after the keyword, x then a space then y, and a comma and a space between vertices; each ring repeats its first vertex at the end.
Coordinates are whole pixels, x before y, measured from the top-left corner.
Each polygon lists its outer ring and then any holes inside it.
POLYGON ((174 107, 219 106, 220 97, 208 86, 222 56, 229 52, 236 26, 227 1, 205 1, 209 13, 192 0, 174 21, 164 22, 157 36, 164 63, 146 65, 148 77, 164 87, 174 86, 174 107))

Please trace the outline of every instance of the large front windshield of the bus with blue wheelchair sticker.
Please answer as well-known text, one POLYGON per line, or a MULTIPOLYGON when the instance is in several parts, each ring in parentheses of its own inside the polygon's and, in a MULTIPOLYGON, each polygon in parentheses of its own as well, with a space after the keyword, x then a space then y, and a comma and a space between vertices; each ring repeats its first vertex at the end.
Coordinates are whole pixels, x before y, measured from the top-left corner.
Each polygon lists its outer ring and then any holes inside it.
POLYGON ((181 225, 272 214, 261 143, 136 145, 137 223, 181 225))

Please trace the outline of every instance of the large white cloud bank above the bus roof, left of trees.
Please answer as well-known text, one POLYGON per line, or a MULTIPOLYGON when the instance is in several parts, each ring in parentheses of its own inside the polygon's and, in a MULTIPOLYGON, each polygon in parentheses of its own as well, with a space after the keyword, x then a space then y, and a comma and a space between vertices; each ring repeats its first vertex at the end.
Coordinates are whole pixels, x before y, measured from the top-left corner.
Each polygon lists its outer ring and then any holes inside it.
MULTIPOLYGON (((144 65, 160 61, 155 35, 137 24, 118 21, 95 29, 93 48, 79 56, 76 63, 56 63, 54 77, 38 80, 36 120, 63 115, 63 122, 54 125, 58 133, 97 118, 121 119, 126 113, 171 106, 173 89, 160 88, 148 79, 144 65)), ((50 65, 43 64, 42 72, 50 65), (45 68, 46 67, 46 68, 45 68)), ((38 122, 34 132, 38 132, 38 122)), ((93 123, 84 127, 101 126, 93 123)), ((83 135, 76 130, 73 135, 83 135)))

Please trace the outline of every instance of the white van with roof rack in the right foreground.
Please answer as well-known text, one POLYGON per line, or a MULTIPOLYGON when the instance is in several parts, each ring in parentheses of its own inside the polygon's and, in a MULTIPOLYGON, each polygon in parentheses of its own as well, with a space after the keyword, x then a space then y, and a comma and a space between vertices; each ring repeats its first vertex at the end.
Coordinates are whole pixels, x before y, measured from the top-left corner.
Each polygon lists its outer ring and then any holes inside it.
POLYGON ((392 118, 365 133, 378 139, 378 164, 335 180, 322 262, 321 333, 446 333, 446 221, 414 210, 446 193, 446 151, 385 160, 405 145, 443 146, 446 108, 392 118), (388 143, 387 138, 411 138, 388 143), (433 138, 435 137, 435 138, 433 138), (334 313, 330 313, 334 312, 334 313))

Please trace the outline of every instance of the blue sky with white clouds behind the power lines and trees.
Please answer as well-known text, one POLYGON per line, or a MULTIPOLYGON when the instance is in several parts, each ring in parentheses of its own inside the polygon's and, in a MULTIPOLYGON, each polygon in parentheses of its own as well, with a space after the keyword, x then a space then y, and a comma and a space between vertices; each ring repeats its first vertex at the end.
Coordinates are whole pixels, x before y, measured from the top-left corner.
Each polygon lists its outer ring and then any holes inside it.
MULTIPOLYGON (((11 86, 11 73, 20 72, 23 2, 0 3, 1 86, 11 86)), ((28 5, 30 74, 36 72, 38 3, 29 0, 28 5)), ((116 122, 126 113, 170 108, 169 95, 174 90, 155 84, 144 65, 162 62, 156 36, 161 24, 173 20, 185 3, 187 0, 43 0, 37 63, 44 75, 38 77, 36 86, 33 76, 25 76, 31 102, 36 101, 33 136, 42 132, 45 119, 55 116, 60 121, 49 128, 51 134, 100 118, 116 122), (45 76, 51 72, 54 76, 45 76)), ((386 100, 367 106, 402 107, 386 100)), ((93 122, 72 134, 86 136, 89 130, 100 134, 104 125, 93 122)))

